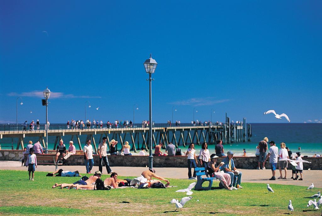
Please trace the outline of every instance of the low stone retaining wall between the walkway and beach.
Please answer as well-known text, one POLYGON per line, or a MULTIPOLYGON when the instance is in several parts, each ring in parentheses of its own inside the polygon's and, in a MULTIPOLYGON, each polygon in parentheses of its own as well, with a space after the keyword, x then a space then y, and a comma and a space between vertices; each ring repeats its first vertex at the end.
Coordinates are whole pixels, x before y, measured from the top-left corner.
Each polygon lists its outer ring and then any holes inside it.
MULTIPOLYGON (((23 159, 22 150, 0 150, 0 160, 2 161, 21 161, 23 159)), ((56 151, 50 150, 52 156, 56 151)), ((148 156, 108 156, 110 166, 148 166, 148 156)), ((218 158, 217 164, 222 161, 223 157, 218 158)), ((304 169, 322 170, 322 157, 305 157, 304 160, 312 162, 311 164, 303 163, 304 169)), ((42 162, 38 160, 38 163, 42 162)), ((44 161, 43 161, 44 162, 44 161)), ((256 169, 258 160, 256 157, 234 157, 236 168, 238 169, 256 169)), ((94 165, 99 163, 99 156, 94 155, 94 165)), ((66 165, 84 165, 84 155, 72 155, 66 161, 66 165)), ((154 167, 187 167, 186 156, 155 156, 153 157, 154 167)), ((266 169, 270 169, 270 164, 266 164, 266 169)), ((288 169, 292 165, 289 164, 288 169)))

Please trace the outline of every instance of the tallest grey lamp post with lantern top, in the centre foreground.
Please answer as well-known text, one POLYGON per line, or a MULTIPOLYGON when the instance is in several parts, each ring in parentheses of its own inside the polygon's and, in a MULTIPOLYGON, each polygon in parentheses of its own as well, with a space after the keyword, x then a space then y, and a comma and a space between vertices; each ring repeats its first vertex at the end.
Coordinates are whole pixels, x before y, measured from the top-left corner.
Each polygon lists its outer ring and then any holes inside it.
POLYGON ((150 58, 147 59, 143 65, 145 71, 149 74, 149 168, 153 168, 153 156, 152 156, 152 78, 151 75, 156 70, 156 60, 152 59, 152 55, 150 54, 150 58))

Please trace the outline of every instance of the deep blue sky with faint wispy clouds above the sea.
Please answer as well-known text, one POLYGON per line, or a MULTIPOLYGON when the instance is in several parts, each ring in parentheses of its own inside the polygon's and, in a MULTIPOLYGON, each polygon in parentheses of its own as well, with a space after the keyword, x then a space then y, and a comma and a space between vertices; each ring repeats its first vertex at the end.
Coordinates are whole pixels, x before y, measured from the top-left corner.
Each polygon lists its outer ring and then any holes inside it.
POLYGON ((322 121, 321 1, 0 1, 0 122, 322 121), (95 108, 99 107, 98 110, 95 108), (32 113, 30 113, 32 111, 32 113))

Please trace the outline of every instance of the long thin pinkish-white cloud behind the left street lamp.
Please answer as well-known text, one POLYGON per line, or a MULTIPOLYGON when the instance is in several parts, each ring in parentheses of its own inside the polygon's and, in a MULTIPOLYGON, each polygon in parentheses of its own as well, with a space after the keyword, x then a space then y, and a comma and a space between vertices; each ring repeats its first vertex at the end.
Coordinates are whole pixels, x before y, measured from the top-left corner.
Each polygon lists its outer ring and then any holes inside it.
MULTIPOLYGON (((19 97, 36 97, 36 98, 43 98, 43 92, 42 91, 30 91, 30 92, 10 92, 7 94, 8 96, 19 96, 19 97)), ((63 92, 52 92, 50 94, 50 98, 101 98, 99 96, 77 96, 73 94, 65 94, 63 92)))

